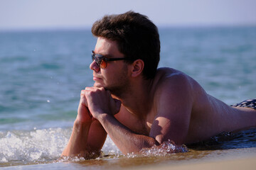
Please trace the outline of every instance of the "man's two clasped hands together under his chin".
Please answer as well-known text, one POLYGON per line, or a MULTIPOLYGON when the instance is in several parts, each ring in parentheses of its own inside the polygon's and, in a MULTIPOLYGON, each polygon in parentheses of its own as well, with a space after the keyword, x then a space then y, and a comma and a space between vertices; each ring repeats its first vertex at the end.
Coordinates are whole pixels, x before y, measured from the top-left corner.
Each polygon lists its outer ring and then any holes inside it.
POLYGON ((103 87, 86 87, 80 94, 78 115, 85 120, 98 119, 101 114, 114 115, 119 112, 121 101, 112 98, 103 87))

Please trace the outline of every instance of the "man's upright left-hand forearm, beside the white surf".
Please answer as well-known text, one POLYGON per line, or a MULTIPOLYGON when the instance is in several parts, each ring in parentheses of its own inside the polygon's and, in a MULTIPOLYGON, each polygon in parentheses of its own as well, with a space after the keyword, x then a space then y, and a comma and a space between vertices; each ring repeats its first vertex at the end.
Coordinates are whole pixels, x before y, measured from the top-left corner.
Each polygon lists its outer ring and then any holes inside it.
POLYGON ((73 131, 68 141, 68 145, 63 150, 61 156, 80 156, 84 157, 87 152, 87 137, 90 130, 91 122, 81 123, 75 120, 73 131))

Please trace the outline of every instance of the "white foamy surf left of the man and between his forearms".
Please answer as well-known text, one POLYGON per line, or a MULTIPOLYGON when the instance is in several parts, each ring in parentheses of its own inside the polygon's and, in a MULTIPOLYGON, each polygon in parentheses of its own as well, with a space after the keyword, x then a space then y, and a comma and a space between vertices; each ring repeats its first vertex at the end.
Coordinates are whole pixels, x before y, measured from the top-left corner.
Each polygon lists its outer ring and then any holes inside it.
MULTIPOLYGON (((0 167, 20 164, 42 164, 51 162, 82 162, 83 157, 63 157, 60 154, 68 144, 72 128, 48 128, 37 130, 0 131, 0 167)), ((102 154, 119 155, 121 152, 107 137, 102 154)), ((96 154, 95 154, 96 155, 96 154)), ((95 158, 95 156, 93 156, 95 158)))

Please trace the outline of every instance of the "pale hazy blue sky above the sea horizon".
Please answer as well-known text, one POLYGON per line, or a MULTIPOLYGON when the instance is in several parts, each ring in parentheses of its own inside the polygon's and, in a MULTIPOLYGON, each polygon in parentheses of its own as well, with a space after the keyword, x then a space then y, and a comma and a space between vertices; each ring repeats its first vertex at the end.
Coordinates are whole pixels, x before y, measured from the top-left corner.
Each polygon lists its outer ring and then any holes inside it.
POLYGON ((90 28, 135 11, 156 26, 256 26, 256 0, 0 0, 0 30, 90 28))

